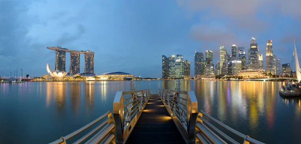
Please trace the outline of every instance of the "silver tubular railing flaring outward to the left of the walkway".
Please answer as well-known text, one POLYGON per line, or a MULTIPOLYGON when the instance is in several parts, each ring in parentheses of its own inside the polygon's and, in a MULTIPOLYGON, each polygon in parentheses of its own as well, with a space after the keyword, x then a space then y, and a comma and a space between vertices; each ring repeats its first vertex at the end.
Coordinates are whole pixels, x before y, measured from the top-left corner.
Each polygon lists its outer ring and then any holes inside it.
POLYGON ((85 143, 115 143, 115 122, 111 111, 106 112, 101 115, 97 119, 93 120, 89 124, 79 128, 78 130, 61 137, 58 140, 51 142, 51 144, 59 144, 59 143, 67 143, 66 140, 74 137, 75 135, 81 133, 85 129, 91 127, 92 125, 97 125, 93 130, 86 133, 84 136, 76 140, 74 143, 81 143, 86 141, 85 143), (105 117, 107 118, 105 119, 105 117), (100 120, 102 121, 99 125, 95 124, 100 120), (98 132, 97 132, 98 131, 98 132), (93 136, 92 136, 93 135, 93 136), (92 137, 91 137, 92 136, 92 137), (88 137, 91 137, 88 139, 88 137))

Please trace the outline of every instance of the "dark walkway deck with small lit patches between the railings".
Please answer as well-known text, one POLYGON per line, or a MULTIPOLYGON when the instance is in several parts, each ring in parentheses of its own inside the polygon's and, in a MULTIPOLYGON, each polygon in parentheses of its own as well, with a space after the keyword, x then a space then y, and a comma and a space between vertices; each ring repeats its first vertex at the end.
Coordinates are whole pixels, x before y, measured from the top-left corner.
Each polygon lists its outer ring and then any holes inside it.
POLYGON ((186 143, 158 94, 152 95, 126 143, 186 143))

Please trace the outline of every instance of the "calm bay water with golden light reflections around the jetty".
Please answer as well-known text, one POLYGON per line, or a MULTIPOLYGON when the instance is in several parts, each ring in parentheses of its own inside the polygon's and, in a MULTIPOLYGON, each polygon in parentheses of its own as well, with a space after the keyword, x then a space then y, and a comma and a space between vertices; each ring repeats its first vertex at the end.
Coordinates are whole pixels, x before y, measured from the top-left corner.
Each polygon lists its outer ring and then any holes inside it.
MULTIPOLYGON (((301 100, 278 94, 281 82, 182 80, 199 109, 265 143, 299 143, 301 100)), ((174 89, 175 80, 135 81, 136 89, 174 89)), ((108 110, 129 81, 0 84, 0 143, 48 143, 108 110)))

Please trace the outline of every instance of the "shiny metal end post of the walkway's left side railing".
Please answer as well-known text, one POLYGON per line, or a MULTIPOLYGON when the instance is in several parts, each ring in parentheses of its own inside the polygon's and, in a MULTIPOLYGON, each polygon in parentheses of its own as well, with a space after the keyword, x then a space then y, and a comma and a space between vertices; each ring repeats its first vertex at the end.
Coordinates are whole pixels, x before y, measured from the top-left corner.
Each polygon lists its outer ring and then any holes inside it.
POLYGON ((123 93, 117 91, 113 101, 113 117, 116 126, 116 143, 123 143, 123 93))

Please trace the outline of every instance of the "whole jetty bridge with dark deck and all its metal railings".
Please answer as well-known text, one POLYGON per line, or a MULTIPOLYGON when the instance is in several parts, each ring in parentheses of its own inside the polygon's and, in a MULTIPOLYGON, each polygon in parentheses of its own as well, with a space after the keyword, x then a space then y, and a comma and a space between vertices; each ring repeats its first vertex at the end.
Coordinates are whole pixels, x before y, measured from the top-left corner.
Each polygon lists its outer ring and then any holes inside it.
POLYGON ((194 91, 157 91, 117 91, 113 112, 51 143, 262 143, 198 111, 194 91))

